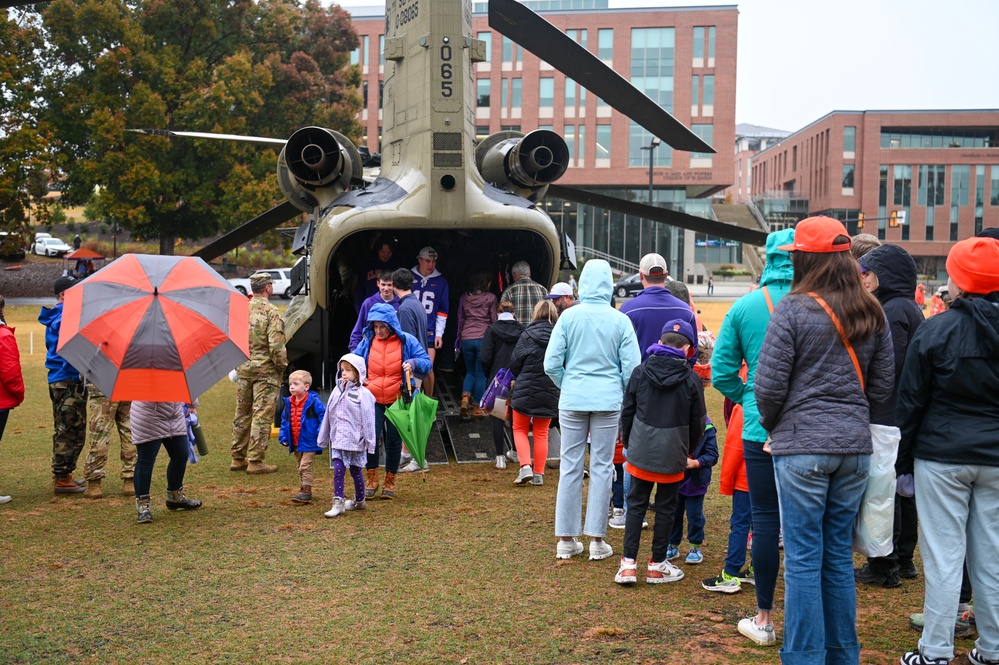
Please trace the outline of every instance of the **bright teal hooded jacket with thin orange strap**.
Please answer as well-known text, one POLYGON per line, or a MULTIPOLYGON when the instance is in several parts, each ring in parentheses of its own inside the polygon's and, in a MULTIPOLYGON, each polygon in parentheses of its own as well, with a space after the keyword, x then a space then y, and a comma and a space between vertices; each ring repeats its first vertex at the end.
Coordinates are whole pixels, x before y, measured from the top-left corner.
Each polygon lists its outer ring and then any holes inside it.
POLYGON ((760 276, 760 288, 739 298, 729 309, 711 356, 711 383, 722 395, 742 405, 744 441, 767 440, 767 431, 760 425, 760 412, 753 394, 756 363, 770 323, 770 310, 763 287, 766 287, 775 307, 791 290, 794 277, 791 255, 777 248, 793 242, 794 229, 776 231, 767 236, 767 265, 760 276), (749 369, 745 383, 739 376, 743 360, 749 369))

